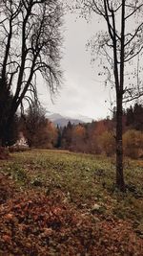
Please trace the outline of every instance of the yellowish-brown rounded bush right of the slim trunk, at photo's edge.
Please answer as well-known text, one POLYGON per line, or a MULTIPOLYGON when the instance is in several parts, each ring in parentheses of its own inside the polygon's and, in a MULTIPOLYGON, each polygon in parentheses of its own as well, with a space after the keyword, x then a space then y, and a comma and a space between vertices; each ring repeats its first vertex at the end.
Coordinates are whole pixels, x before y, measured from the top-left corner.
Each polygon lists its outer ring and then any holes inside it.
POLYGON ((124 154, 138 158, 143 151, 143 132, 135 129, 126 131, 123 135, 124 154))

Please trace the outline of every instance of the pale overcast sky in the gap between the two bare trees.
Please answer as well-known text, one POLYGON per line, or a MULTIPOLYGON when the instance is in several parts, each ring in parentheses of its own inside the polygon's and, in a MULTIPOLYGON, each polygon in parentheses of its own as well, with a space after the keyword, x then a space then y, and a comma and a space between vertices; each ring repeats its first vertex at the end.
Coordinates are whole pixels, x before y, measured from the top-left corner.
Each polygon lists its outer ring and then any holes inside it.
POLYGON ((75 15, 65 16, 65 32, 63 59, 61 67, 64 70, 64 82, 59 95, 51 103, 45 87, 40 88, 42 104, 51 113, 66 116, 84 115, 93 119, 104 118, 110 114, 110 92, 104 82, 97 76, 96 65, 91 64, 91 53, 86 51, 88 39, 99 29, 96 22, 87 24, 84 19, 75 15))

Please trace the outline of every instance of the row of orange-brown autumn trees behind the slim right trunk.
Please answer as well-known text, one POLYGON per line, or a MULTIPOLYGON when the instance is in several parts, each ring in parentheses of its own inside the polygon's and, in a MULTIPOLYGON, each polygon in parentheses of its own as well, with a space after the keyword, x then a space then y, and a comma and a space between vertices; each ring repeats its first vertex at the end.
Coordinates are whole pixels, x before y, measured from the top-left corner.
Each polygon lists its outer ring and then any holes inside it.
MULTIPOLYGON (((143 155, 143 105, 135 104, 124 110, 123 148, 124 154, 132 158, 143 155)), ((70 151, 115 154, 115 111, 112 119, 92 121, 89 124, 74 125, 69 122, 60 130, 59 148, 70 151)))

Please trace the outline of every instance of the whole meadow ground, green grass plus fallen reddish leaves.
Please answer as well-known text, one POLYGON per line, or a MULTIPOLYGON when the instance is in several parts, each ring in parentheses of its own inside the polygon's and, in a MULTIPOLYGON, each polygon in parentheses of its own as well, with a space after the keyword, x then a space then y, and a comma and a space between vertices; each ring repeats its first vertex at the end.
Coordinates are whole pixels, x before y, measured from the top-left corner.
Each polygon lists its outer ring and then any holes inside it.
POLYGON ((127 191, 121 194, 113 184, 113 158, 34 150, 12 153, 9 161, 0 161, 0 255, 142 255, 143 160, 126 159, 124 167, 127 191), (46 203, 53 209, 45 209, 46 203), (15 206, 20 208, 18 214, 15 206), (39 222, 44 211, 47 217, 39 222), (48 216, 56 220, 42 222, 48 216), (19 225, 26 225, 26 230, 19 225), (42 228, 48 229, 45 244, 42 228))

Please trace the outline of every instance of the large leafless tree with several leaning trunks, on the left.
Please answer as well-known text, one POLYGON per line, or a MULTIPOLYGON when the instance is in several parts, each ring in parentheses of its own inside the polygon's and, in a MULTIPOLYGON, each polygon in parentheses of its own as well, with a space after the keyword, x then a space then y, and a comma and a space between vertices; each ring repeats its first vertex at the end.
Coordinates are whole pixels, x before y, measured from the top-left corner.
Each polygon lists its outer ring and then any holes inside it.
POLYGON ((17 108, 37 97, 37 75, 53 93, 60 85, 62 17, 58 0, 0 1, 0 103, 10 91, 8 127, 17 108))

